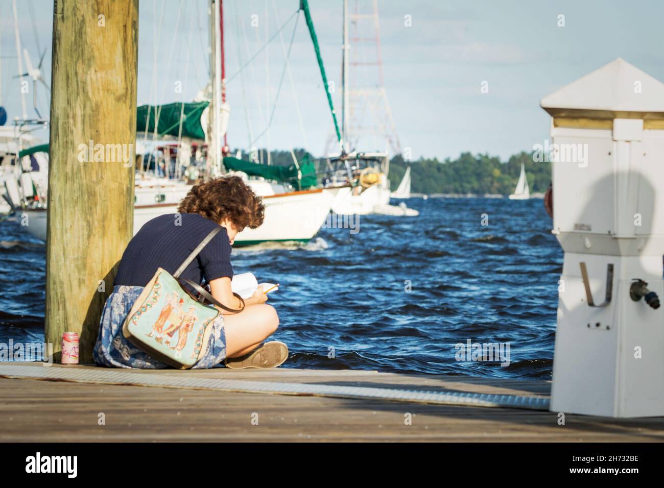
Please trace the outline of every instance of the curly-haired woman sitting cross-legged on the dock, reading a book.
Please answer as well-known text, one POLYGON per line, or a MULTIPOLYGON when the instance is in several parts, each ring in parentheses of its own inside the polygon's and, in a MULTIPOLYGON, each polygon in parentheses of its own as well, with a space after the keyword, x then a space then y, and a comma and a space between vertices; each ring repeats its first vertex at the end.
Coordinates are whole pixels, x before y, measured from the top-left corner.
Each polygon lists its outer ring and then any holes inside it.
MULTIPOLYGON (((265 208, 260 198, 239 177, 221 177, 195 185, 181 202, 178 213, 147 222, 131 239, 120 261, 113 293, 106 300, 93 357, 98 365, 120 368, 167 368, 127 341, 122 325, 157 268, 173 274, 189 254, 217 226, 222 226, 193 260, 182 278, 207 282, 212 297, 230 309, 241 309, 230 280, 230 252, 235 236, 245 227, 263 223, 265 208)), ((279 317, 268 296, 258 287, 244 300, 244 310, 231 314, 220 310, 213 322, 207 353, 193 368, 211 368, 222 361, 227 367, 274 367, 288 358, 288 347, 279 341, 262 344, 276 331, 279 317), (223 314, 223 315, 222 315, 223 314)), ((176 307, 173 303, 171 308, 176 307)), ((171 309, 169 308, 169 310, 171 309)), ((169 317, 159 317, 157 333, 168 329, 169 317), (163 320, 161 320, 163 318, 163 320), (163 322, 163 323, 161 323, 163 322)))

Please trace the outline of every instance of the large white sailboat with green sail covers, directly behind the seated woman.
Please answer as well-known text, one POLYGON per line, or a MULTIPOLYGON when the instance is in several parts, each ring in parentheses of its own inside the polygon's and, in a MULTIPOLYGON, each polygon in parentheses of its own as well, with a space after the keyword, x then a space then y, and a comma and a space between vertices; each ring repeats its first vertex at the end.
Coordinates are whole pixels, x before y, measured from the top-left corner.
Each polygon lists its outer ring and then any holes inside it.
MULTIPOLYGON (((301 9, 305 10, 308 17, 308 5, 305 0, 301 2, 301 9)), ((213 175, 220 175, 223 173, 222 162, 226 165, 224 159, 228 159, 222 156, 224 150, 227 149, 225 141, 222 145, 222 138, 225 139, 228 116, 224 76, 222 73, 224 71, 222 56, 224 46, 222 44, 221 30, 222 2, 210 0, 210 14, 210 56, 212 58, 211 100, 195 104, 170 104, 173 107, 159 106, 159 118, 153 114, 152 119, 149 115, 149 106, 145 106, 143 107, 143 111, 147 110, 147 116, 143 114, 143 123, 145 125, 145 132, 148 132, 150 125, 153 125, 156 135, 156 127, 161 125, 163 120, 167 120, 168 111, 171 110, 175 114, 175 120, 179 121, 177 124, 179 127, 177 125, 171 127, 171 129, 177 131, 175 135, 178 136, 178 140, 160 142, 170 143, 179 148, 183 143, 181 136, 184 135, 184 131, 191 129, 191 125, 197 125, 197 121, 200 120, 200 124, 195 127, 195 132, 204 134, 204 145, 207 145, 208 149, 210 149, 208 152, 210 155, 208 167, 212 170, 213 175), (203 110, 207 108, 208 104, 210 106, 209 109, 203 110), (185 110, 185 106, 187 106, 187 118, 191 122, 188 121, 187 125, 189 127, 183 129, 181 111, 185 110), (189 110, 195 112, 191 117, 189 117, 189 110), (208 121, 209 123, 207 123, 208 121)), ((307 22, 307 26, 310 30, 313 30, 313 23, 307 22)), ((319 64, 321 63, 322 60, 319 60, 319 64)), ((152 109, 157 110, 156 107, 152 109)), ((141 122, 140 114, 141 108, 139 108, 139 122, 141 122)), ((193 135, 192 137, 195 138, 193 135)), ((155 143, 156 141, 151 142, 155 143)), ((301 171, 298 170, 295 173, 297 174, 295 179, 302 179, 301 171)), ((133 218, 134 233, 138 232, 145 222, 156 216, 177 212, 179 202, 193 186, 187 185, 183 181, 158 178, 156 175, 153 177, 143 174, 137 175, 136 178, 133 218)), ((262 197, 265 205, 265 218, 262 226, 256 229, 245 229, 240 232, 235 238, 234 246, 247 246, 268 241, 307 242, 317 234, 333 204, 338 200, 344 200, 350 194, 349 187, 297 187, 294 191, 287 191, 284 185, 266 181, 266 179, 247 179, 246 183, 252 187, 256 195, 262 197)), ((41 240, 46 240, 47 212, 45 197, 46 188, 44 187, 42 198, 39 201, 27 201, 24 198, 20 202, 13 204, 14 211, 20 208, 21 213, 27 216, 29 224, 25 228, 28 232, 41 240)))

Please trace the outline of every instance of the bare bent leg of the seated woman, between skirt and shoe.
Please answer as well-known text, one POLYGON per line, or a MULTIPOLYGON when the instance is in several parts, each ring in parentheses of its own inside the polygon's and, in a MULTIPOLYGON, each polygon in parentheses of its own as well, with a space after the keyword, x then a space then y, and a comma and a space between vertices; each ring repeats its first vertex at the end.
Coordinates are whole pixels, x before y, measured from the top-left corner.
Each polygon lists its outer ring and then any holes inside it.
POLYGON ((272 305, 250 305, 236 315, 224 315, 226 357, 237 357, 255 349, 279 327, 272 305))

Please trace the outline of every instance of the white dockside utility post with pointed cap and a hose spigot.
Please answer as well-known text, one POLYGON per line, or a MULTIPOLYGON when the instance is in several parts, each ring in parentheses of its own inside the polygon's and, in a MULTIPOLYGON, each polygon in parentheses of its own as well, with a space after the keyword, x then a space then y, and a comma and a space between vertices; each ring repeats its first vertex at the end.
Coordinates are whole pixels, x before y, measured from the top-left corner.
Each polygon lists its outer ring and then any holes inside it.
POLYGON ((551 410, 664 416, 664 84, 618 58, 541 106, 565 252, 551 410))

